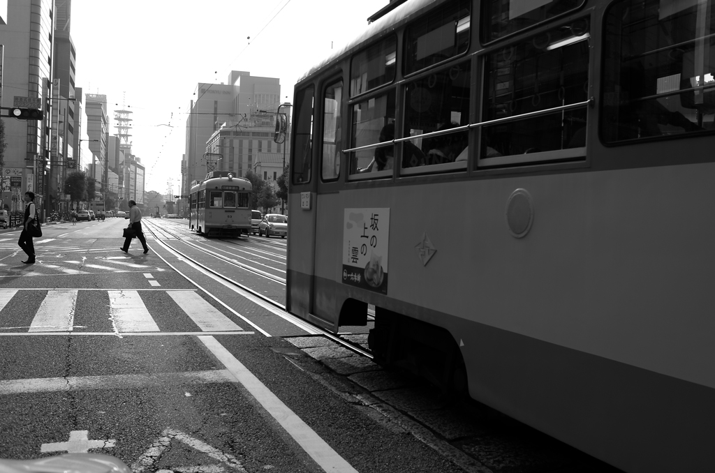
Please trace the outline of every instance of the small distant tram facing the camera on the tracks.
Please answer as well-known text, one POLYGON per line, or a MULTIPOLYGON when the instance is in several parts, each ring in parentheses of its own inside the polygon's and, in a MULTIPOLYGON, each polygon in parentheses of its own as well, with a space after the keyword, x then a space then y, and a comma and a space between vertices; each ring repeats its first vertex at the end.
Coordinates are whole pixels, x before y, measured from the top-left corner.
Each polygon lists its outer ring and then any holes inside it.
POLYGON ((239 237, 251 230, 251 182, 230 171, 212 171, 194 181, 189 228, 207 237, 239 237))

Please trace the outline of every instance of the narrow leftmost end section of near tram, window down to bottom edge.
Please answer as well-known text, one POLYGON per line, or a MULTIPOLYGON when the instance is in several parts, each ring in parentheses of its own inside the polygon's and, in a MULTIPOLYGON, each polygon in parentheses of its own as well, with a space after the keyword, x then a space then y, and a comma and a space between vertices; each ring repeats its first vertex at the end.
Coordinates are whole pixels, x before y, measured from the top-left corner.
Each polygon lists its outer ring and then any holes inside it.
MULTIPOLYGON (((312 171, 313 97, 315 87, 295 93, 288 199, 288 312, 310 320, 315 272, 315 189, 312 171)), ((287 144, 287 143, 286 143, 287 144)))

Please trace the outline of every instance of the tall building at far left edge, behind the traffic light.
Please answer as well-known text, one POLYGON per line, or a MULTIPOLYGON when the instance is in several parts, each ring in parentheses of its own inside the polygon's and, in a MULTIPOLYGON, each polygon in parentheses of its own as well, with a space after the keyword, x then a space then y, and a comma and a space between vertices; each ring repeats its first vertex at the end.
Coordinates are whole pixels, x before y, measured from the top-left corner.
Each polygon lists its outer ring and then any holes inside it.
POLYGON ((44 211, 47 205, 45 174, 50 157, 48 101, 53 79, 54 1, 8 0, 4 3, 7 5, 6 24, 0 25, 4 56, 1 105, 13 106, 15 96, 41 99, 45 118, 41 121, 4 119, 8 146, 2 174, 3 206, 11 208, 10 203, 17 202, 21 193, 30 189, 40 196, 36 202, 44 211))

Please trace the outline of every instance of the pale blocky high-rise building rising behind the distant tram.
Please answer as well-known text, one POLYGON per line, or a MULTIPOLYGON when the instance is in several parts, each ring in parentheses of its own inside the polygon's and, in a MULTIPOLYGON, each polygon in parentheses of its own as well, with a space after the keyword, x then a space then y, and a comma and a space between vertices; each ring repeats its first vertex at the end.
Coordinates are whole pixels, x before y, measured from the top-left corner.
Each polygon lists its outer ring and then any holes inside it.
POLYGON ((282 153, 272 141, 280 79, 231 71, 228 84, 198 84, 189 104, 186 154, 182 160, 182 195, 202 180, 207 169, 243 176, 259 152, 282 153))

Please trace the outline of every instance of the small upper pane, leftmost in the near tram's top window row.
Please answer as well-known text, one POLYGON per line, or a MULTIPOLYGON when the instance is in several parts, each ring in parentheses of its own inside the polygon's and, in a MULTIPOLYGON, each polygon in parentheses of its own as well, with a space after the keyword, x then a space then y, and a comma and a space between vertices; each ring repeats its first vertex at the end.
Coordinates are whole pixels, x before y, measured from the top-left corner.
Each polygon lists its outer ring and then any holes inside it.
POLYGON ((370 46, 352 56, 350 61, 350 96, 364 94, 395 80, 398 41, 395 36, 370 46))

